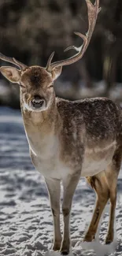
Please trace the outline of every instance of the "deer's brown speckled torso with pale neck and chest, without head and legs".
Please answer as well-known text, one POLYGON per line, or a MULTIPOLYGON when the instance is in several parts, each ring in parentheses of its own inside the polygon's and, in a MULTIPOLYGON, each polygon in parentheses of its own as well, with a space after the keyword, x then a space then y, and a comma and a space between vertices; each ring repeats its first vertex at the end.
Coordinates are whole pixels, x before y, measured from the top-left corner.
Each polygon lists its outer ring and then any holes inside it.
POLYGON ((116 131, 121 125, 117 120, 120 109, 107 98, 78 102, 57 98, 56 104, 55 113, 50 111, 47 120, 43 120, 42 113, 31 113, 28 118, 28 111, 22 110, 35 168, 43 176, 59 180, 76 173, 76 169, 81 176, 94 176, 106 169, 118 147, 116 131), (115 111, 114 119, 110 108, 115 111), (54 120, 52 115, 56 117, 54 120), (113 123, 113 130, 109 121, 113 123))

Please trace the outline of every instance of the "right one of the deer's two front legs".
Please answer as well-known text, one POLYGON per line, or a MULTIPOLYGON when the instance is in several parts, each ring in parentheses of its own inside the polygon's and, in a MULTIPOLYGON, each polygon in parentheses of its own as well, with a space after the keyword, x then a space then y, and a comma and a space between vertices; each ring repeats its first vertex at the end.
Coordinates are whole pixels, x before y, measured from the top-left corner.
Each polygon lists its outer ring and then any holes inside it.
POLYGON ((64 198, 62 204, 62 212, 64 217, 64 232, 61 244, 61 254, 67 255, 69 253, 70 236, 69 236, 69 217, 72 206, 72 197, 76 190, 80 174, 68 176, 63 180, 64 198))

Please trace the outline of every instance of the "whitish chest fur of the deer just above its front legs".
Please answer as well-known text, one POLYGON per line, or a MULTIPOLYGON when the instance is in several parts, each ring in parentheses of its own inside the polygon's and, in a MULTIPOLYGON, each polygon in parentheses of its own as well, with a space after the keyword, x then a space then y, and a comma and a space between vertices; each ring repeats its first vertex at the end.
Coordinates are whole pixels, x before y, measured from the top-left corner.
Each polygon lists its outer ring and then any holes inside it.
POLYGON ((42 140, 41 145, 39 139, 34 143, 28 139, 28 142, 32 152, 31 160, 35 168, 46 178, 63 180, 74 171, 61 161, 60 147, 56 137, 50 136, 44 142, 42 140))

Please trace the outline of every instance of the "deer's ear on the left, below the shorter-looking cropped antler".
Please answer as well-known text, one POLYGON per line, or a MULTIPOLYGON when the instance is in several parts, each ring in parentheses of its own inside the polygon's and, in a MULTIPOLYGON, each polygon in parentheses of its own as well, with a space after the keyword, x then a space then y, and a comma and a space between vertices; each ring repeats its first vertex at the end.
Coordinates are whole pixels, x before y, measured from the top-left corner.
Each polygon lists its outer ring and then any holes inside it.
POLYGON ((13 67, 3 66, 0 68, 0 72, 12 83, 20 82, 20 70, 13 67))

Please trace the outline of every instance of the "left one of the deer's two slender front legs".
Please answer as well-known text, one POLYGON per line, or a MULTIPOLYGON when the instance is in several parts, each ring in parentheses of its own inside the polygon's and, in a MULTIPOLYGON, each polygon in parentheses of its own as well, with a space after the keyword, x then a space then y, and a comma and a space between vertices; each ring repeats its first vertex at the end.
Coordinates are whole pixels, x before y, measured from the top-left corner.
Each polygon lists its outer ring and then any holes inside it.
POLYGON ((54 217, 54 245, 53 250, 61 248, 61 230, 60 230, 60 180, 50 179, 46 181, 46 186, 50 197, 50 206, 54 217))

